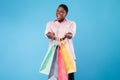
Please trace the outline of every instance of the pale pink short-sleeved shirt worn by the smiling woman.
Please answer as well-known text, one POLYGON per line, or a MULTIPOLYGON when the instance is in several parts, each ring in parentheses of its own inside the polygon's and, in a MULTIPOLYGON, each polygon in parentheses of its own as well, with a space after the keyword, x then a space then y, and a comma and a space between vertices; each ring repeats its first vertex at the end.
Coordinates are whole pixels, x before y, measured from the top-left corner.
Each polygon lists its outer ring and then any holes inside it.
MULTIPOLYGON (((75 36, 76 33, 76 24, 74 21, 70 21, 65 19, 63 22, 59 23, 58 21, 50 21, 48 22, 47 26, 46 26, 46 30, 45 30, 45 35, 48 32, 53 32, 55 33, 56 37, 62 38, 64 37, 64 35, 68 32, 71 32, 73 34, 73 37, 75 36)), ((69 53, 71 55, 71 57, 73 58, 73 60, 76 59, 75 57, 75 53, 74 53, 74 47, 73 47, 73 42, 72 39, 65 39, 66 43, 67 43, 67 48, 69 50, 69 53)), ((54 44, 54 40, 50 40, 50 44, 52 45, 54 44)))

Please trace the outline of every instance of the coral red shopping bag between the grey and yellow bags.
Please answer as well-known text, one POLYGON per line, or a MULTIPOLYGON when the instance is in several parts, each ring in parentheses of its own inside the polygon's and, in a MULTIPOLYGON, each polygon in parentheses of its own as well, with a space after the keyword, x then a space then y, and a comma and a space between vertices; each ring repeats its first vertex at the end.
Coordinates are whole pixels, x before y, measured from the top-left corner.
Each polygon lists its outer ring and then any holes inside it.
POLYGON ((60 47, 58 47, 58 80, 68 80, 60 47))

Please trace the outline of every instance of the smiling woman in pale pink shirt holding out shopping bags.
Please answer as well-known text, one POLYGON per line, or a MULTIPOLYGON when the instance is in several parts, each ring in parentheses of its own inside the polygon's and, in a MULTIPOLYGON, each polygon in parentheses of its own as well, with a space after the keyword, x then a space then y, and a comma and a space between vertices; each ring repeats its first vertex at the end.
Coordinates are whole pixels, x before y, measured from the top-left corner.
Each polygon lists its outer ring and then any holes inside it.
MULTIPOLYGON (((50 39, 50 44, 54 43, 54 40, 64 40, 69 47, 72 59, 75 61, 76 57, 74 54, 72 38, 76 33, 76 24, 65 18, 67 14, 68 7, 65 4, 59 5, 56 11, 56 19, 48 22, 45 35, 50 39)), ((74 80, 74 73, 68 74, 68 79, 74 80)))

